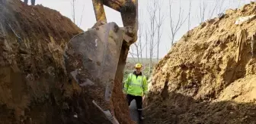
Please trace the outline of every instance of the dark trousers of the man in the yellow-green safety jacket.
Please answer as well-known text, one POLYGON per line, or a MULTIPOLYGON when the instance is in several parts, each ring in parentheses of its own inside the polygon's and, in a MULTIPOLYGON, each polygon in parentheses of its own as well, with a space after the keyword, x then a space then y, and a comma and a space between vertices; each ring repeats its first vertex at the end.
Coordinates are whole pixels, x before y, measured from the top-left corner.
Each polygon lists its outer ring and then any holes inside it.
POLYGON ((126 99, 128 102, 128 105, 130 106, 130 103, 135 99, 137 110, 139 113, 139 119, 142 116, 142 97, 141 96, 134 96, 134 95, 126 95, 126 99))

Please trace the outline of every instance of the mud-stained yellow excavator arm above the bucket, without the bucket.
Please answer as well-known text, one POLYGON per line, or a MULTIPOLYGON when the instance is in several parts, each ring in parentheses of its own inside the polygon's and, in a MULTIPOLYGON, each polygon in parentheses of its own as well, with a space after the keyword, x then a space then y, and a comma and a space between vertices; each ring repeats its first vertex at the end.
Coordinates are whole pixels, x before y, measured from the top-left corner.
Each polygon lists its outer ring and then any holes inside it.
POLYGON ((138 31, 138 1, 137 0, 92 0, 97 22, 107 23, 104 5, 119 11, 123 20, 124 31, 131 37, 129 45, 136 42, 138 31))

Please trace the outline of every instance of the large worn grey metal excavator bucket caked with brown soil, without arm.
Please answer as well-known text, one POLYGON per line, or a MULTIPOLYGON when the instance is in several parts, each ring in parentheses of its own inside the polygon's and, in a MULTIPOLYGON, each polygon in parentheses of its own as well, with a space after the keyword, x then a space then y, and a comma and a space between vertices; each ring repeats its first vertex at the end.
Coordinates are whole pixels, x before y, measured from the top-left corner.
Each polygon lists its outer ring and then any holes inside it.
POLYGON ((75 36, 66 45, 64 55, 67 73, 108 119, 113 119, 110 97, 122 43, 123 30, 116 23, 107 23, 75 36))

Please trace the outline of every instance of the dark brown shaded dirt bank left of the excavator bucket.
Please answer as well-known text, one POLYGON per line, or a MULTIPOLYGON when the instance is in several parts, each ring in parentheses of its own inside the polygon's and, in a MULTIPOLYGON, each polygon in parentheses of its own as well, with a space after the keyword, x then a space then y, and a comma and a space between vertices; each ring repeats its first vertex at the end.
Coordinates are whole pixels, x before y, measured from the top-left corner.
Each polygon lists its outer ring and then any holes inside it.
MULTIPOLYGON (((0 0, 0 123, 109 123, 66 74, 63 50, 78 33, 58 11, 0 0)), ((117 119, 130 123, 121 105, 117 119)))

